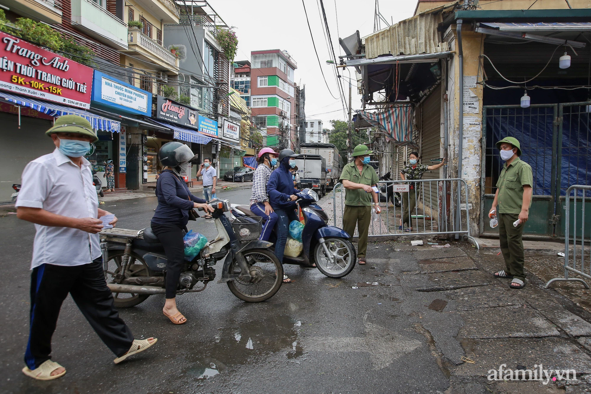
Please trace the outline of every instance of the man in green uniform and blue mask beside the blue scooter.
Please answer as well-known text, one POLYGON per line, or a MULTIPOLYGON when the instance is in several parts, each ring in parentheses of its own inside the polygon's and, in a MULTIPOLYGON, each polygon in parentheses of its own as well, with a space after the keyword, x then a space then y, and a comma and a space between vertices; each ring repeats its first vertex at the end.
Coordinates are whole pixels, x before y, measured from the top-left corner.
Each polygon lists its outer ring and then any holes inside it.
POLYGON ((376 214, 381 212, 378 204, 378 195, 372 189, 378 183, 378 175, 374 167, 369 165, 371 150, 365 145, 358 145, 353 150, 353 162, 343 167, 340 181, 345 186, 345 212, 343 213, 343 230, 353 240, 353 233, 357 225, 359 232, 359 244, 357 255, 359 264, 365 264, 365 255, 368 250, 368 232, 371 223, 371 208, 375 206, 376 214), (373 204, 372 204, 373 201, 373 204))

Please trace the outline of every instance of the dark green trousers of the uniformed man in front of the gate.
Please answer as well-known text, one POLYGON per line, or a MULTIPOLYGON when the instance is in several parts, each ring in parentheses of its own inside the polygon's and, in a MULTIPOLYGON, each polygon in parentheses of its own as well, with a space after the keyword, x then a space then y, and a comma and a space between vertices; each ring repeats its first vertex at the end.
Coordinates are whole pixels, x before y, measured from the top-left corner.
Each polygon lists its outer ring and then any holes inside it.
POLYGON ((524 280, 523 264, 525 262, 523 241, 524 223, 513 227, 513 223, 519 219, 519 214, 498 214, 499 219, 499 238, 501 241, 501 251, 505 264, 506 273, 513 275, 517 279, 524 280))

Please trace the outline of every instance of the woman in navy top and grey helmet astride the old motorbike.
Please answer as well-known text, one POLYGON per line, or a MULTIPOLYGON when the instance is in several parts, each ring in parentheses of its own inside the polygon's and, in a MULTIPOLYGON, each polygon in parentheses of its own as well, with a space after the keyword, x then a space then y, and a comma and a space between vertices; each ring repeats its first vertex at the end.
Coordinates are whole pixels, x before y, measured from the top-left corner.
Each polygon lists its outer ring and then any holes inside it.
POLYGON ((187 319, 178 312, 176 293, 178 278, 184 263, 184 234, 187 232, 189 210, 203 208, 213 212, 204 199, 191 194, 180 173, 184 173, 194 158, 191 149, 179 142, 164 144, 158 153, 164 170, 156 183, 158 206, 152 217, 152 232, 166 254, 166 302, 163 313, 174 324, 183 324, 187 319))

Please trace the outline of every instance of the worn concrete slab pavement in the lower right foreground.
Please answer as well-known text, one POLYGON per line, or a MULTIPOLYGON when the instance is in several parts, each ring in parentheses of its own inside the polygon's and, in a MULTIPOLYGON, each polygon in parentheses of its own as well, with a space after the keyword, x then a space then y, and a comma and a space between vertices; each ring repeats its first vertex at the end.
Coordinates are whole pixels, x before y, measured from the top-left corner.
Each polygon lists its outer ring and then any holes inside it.
MULTIPOLYGON (((493 276, 505 263, 492 243, 483 250, 450 244, 432 248, 413 247, 409 241, 370 243, 366 268, 384 276, 376 279, 379 282, 414 290, 407 297, 420 299, 407 311, 415 318, 411 329, 427 338, 437 364, 450 377, 446 393, 589 392, 589 311, 556 289, 544 289, 544 280, 531 270, 524 289, 510 289, 508 279, 493 276), (400 259, 384 259, 392 251, 400 259), (411 259, 403 260, 409 252, 411 259), (450 330, 450 322, 457 328, 450 330), (577 380, 553 381, 552 372, 549 382, 544 379, 547 384, 489 380, 490 370, 501 364, 505 370, 533 370, 540 364, 548 370, 574 369, 577 380)), ((526 268, 532 255, 527 253, 526 268)))

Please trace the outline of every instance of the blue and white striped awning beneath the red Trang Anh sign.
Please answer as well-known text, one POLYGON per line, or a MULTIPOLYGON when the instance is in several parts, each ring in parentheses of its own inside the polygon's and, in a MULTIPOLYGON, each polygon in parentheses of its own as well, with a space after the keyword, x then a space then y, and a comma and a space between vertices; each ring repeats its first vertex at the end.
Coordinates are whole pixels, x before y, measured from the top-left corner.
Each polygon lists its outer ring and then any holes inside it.
POLYGON ((99 117, 84 109, 72 108, 70 106, 60 105, 49 101, 41 101, 6 92, 0 92, 0 98, 5 102, 27 106, 28 108, 32 108, 35 111, 39 111, 54 118, 61 117, 61 115, 80 115, 81 117, 86 118, 90 124, 92 124, 92 128, 96 130, 108 131, 109 133, 119 133, 119 131, 121 131, 121 122, 99 117))

